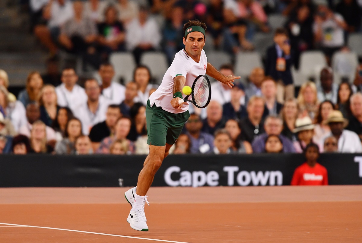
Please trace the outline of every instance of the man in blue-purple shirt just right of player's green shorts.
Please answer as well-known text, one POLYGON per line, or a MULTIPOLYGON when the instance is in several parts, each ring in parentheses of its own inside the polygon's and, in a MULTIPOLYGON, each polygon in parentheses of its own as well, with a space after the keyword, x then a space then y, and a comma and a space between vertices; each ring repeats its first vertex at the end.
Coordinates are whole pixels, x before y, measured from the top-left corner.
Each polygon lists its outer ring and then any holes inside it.
POLYGON ((210 153, 214 148, 214 137, 206 132, 201 132, 202 121, 197 114, 191 114, 188 121, 186 121, 187 135, 191 140, 192 154, 210 153))

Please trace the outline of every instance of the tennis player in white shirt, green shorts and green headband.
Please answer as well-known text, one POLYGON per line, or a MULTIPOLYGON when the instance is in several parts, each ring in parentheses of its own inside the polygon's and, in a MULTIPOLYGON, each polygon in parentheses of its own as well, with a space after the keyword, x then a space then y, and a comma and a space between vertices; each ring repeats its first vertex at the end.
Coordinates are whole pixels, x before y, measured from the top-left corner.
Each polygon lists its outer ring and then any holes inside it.
POLYGON ((230 88, 234 79, 240 78, 225 76, 207 62, 205 51, 202 50, 205 46, 205 31, 206 25, 198 20, 189 21, 184 25, 185 48, 175 55, 161 85, 147 101, 147 144, 150 146, 150 154, 138 176, 137 187, 125 193, 127 201, 132 206, 127 218, 132 229, 148 231, 144 213, 144 205, 148 204, 146 193, 163 159, 168 155, 169 149, 190 116, 187 102, 178 104, 182 99, 182 88, 185 85, 192 86, 195 78, 205 73, 230 88))

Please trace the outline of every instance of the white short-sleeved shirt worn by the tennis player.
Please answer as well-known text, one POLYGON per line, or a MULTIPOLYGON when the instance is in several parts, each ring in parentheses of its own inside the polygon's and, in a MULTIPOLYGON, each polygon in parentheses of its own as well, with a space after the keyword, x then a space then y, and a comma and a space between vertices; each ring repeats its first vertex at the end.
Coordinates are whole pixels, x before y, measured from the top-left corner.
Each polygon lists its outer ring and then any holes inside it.
MULTIPOLYGON (((185 49, 177 52, 171 66, 163 76, 161 85, 150 96, 151 106, 156 104, 156 106, 162 107, 163 110, 174 114, 187 111, 189 108, 188 102, 185 102, 180 109, 175 109, 171 105, 171 100, 173 99, 173 79, 176 76, 182 75, 186 77, 185 86, 191 87, 197 76, 201 74, 205 75, 206 67, 207 57, 204 50, 201 51, 201 57, 198 63, 186 53, 185 49)), ((183 97, 186 97, 186 95, 183 95, 183 97)))

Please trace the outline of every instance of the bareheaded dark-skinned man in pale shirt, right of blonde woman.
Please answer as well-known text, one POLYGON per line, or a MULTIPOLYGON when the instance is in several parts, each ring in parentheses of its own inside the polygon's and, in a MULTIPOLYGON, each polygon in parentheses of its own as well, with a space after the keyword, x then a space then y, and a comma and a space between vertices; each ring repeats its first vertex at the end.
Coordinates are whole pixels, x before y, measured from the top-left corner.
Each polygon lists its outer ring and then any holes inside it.
POLYGON ((317 97, 320 102, 331 101, 337 103, 338 85, 333 83, 332 68, 323 68, 320 71, 320 84, 317 86, 317 97))

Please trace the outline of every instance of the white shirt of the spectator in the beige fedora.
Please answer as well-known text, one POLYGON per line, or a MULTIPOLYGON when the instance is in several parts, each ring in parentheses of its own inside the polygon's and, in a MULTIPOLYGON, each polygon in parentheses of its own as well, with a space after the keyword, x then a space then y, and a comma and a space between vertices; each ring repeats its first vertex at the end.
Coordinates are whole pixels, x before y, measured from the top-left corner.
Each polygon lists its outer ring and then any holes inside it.
MULTIPOLYGON (((324 139, 329 136, 332 136, 332 133, 329 133, 327 136, 324 137, 324 139)), ((323 139, 323 142, 324 142, 324 139, 323 139)), ((361 140, 359 140, 357 133, 349 131, 349 130, 343 130, 342 135, 338 139, 338 152, 340 152, 340 153, 361 153, 362 144, 361 144, 361 140)))

